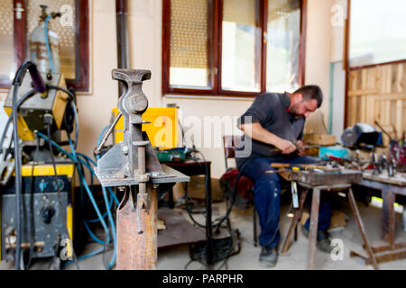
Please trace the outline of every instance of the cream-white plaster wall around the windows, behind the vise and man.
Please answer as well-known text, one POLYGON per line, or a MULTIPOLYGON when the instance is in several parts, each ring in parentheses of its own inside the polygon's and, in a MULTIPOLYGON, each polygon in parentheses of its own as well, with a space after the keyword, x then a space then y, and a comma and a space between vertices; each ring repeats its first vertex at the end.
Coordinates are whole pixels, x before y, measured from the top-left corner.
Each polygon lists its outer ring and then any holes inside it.
MULTIPOLYGON (((328 96, 330 59, 331 0, 308 0, 308 30, 306 46, 306 84, 319 85, 328 96)), ((152 70, 152 79, 144 82, 143 91, 150 107, 178 103, 184 115, 239 116, 251 100, 184 99, 161 96, 161 0, 131 0, 130 5, 131 68, 152 70)), ((78 97, 80 137, 78 150, 92 155, 99 132, 108 124, 110 111, 116 107, 117 84, 111 78, 116 67, 115 0, 93 0, 92 14, 92 81, 93 91, 78 97)), ((5 94, 0 94, 5 97, 5 94)), ((322 106, 326 121, 328 101, 322 106)), ((212 176, 225 172, 222 148, 202 149, 213 162, 212 176)))

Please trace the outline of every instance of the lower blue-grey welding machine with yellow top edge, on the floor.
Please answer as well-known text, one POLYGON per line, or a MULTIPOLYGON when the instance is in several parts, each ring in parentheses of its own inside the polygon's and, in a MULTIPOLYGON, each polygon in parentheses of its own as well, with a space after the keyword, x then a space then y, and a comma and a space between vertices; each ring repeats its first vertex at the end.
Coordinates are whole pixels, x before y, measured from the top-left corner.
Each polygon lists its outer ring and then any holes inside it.
MULTIPOLYGON (((75 239, 80 234, 74 221, 77 220, 78 210, 73 211, 76 206, 74 195, 74 164, 58 164, 57 166, 58 184, 60 185, 60 201, 62 207, 66 208, 61 212, 59 208, 59 196, 57 193, 54 170, 52 165, 23 165, 23 213, 27 219, 23 233, 23 249, 30 247, 31 223, 35 228, 34 254, 33 257, 54 256, 55 244, 59 243, 60 235, 65 230, 66 225, 70 239, 75 239), (32 177, 33 175, 33 177, 32 177), (32 197, 32 200, 31 200, 32 197), (62 218, 65 218, 63 220, 62 218)), ((13 260, 15 249, 15 194, 14 181, 10 181, 2 188, 1 195, 1 255, 0 260, 13 260)), ((67 257, 71 254, 70 243, 66 243, 67 257)))

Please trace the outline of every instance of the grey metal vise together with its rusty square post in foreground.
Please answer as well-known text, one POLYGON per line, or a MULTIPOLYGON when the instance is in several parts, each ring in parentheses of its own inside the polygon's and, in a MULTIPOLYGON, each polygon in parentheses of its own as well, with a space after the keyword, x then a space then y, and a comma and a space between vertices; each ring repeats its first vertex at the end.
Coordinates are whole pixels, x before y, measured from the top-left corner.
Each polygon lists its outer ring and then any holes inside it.
POLYGON ((116 214, 117 269, 155 269, 159 184, 168 187, 168 184, 189 181, 189 177, 161 166, 147 134, 142 131, 143 124, 149 123, 142 119, 148 108, 142 85, 144 80, 151 78, 151 71, 113 69, 112 76, 125 85, 126 91, 118 100, 119 113, 95 153, 100 153, 108 135, 123 116, 124 140, 97 161, 96 171, 103 186, 115 186, 124 192, 116 214))

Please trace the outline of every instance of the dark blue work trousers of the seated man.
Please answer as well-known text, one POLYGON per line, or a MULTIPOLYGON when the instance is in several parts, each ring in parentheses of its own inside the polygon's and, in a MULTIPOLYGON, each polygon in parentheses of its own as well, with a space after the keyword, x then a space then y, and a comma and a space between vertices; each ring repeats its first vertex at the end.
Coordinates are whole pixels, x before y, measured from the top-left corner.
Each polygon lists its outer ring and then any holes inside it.
MULTIPOLYGON (((317 162, 314 157, 260 157, 249 159, 243 175, 254 183, 254 204, 258 212, 261 234, 261 246, 276 247, 281 238, 279 226, 281 208, 281 176, 278 173, 266 173, 275 170, 271 163, 311 164, 317 162)), ((320 202, 318 211, 318 229, 328 229, 331 211, 328 202, 320 202)), ((309 229, 309 219, 305 224, 309 229)))

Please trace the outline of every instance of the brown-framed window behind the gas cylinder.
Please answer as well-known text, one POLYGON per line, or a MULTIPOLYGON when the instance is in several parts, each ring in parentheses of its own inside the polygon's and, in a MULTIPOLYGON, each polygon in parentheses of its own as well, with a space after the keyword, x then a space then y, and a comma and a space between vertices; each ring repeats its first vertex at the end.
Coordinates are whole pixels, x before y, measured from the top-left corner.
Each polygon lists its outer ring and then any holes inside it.
POLYGON ((48 13, 63 13, 49 24, 59 37, 60 73, 68 86, 88 91, 88 1, 80 0, 0 1, 0 88, 8 88, 17 67, 31 58, 30 40, 41 4, 48 6, 48 13))

